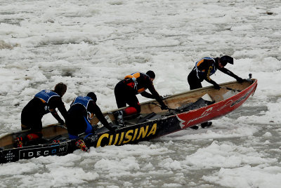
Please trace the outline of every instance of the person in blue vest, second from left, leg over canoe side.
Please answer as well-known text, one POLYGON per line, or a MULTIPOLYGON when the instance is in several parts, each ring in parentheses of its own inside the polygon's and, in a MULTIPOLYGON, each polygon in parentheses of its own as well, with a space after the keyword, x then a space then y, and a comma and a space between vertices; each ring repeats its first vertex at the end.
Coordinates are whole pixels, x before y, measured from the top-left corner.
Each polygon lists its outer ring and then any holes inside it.
MULTIPOLYGON (((70 139, 78 138, 78 135, 81 133, 86 133, 84 138, 93 134, 93 127, 90 121, 94 114, 98 120, 103 123, 103 126, 112 132, 115 131, 115 128, 110 126, 106 121, 103 113, 100 111, 100 107, 96 104, 96 100, 96 94, 93 92, 88 93, 86 96, 78 96, 74 99, 67 112, 67 119, 65 120, 70 139)), ((75 145, 84 152, 89 152, 89 148, 86 147, 84 140, 77 140, 75 145)))

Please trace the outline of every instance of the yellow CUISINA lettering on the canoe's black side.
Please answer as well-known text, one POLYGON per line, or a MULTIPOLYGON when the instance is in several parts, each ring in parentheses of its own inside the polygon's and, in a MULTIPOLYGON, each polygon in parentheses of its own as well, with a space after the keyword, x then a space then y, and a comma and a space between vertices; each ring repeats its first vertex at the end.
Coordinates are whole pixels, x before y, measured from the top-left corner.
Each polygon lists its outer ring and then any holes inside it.
POLYGON ((124 145, 129 142, 133 142, 136 140, 142 140, 145 137, 149 137, 150 135, 155 135, 157 130, 157 123, 154 123, 152 126, 143 126, 141 128, 134 128, 130 130, 125 130, 122 133, 117 133, 115 135, 110 135, 108 133, 104 133, 100 135, 98 138, 98 142, 96 147, 100 147, 101 143, 103 145, 124 145))

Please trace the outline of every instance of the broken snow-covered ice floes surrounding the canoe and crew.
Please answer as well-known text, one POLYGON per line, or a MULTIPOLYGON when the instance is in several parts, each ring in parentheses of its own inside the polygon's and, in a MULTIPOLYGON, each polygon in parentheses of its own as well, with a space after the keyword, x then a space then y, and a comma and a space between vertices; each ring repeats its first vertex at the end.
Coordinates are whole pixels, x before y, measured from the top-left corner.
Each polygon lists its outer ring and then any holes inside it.
MULTIPOLYGON (((0 5, 0 134, 20 130, 22 108, 60 81, 67 109, 93 91, 107 111, 117 108, 113 90, 126 74, 152 69, 160 95, 180 93, 206 56, 233 56, 226 68, 258 79, 254 96, 211 128, 1 164, 0 187, 280 187, 280 0, 0 5)), ((233 81, 219 71, 211 78, 233 81)), ((48 114, 43 124, 50 123, 48 114)))

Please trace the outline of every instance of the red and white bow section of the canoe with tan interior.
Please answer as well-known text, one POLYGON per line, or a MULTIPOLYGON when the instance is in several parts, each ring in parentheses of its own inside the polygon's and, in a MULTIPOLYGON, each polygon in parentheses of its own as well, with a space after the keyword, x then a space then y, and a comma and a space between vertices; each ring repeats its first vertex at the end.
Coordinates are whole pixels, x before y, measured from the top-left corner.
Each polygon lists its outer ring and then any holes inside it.
POLYGON ((207 107, 200 107, 199 109, 178 114, 177 116, 181 121, 182 128, 188 128, 233 112, 233 110, 240 107, 250 95, 254 95, 254 91, 257 87, 257 80, 253 79, 244 83, 223 83, 220 86, 222 87, 220 90, 211 88, 209 88, 211 90, 207 88, 194 90, 195 93, 200 91, 207 93, 211 97, 211 100, 215 102, 207 107), (233 88, 233 90, 231 90, 231 88, 233 88))

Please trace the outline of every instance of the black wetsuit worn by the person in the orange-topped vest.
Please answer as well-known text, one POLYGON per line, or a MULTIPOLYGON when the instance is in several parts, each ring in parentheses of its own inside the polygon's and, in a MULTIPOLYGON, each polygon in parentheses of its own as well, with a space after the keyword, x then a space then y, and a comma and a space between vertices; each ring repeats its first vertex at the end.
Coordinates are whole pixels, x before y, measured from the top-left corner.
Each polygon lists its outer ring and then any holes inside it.
POLYGON ((130 107, 136 108, 137 113, 140 113, 141 105, 138 102, 138 98, 136 98, 138 93, 141 93, 141 95, 145 98, 156 99, 161 106, 166 106, 155 90, 152 81, 150 81, 150 77, 143 73, 139 74, 140 75, 136 78, 136 81, 129 78, 123 79, 115 86, 117 107, 126 107, 126 104, 128 104, 130 107), (146 89, 150 90, 151 94, 146 92, 146 89))

